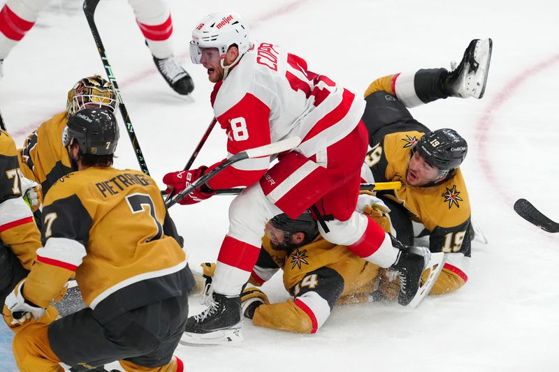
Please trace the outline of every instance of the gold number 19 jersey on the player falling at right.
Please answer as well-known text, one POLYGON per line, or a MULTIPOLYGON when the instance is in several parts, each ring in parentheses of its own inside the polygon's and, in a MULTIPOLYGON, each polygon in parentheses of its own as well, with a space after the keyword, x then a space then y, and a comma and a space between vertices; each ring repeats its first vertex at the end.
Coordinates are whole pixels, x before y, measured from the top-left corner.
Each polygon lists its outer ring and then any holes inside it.
MULTIPOLYGON (((381 77, 370 84, 365 98, 376 91, 398 97, 395 80, 398 75, 381 77)), ((413 145, 425 133, 425 126, 414 120, 387 123, 370 140, 372 149, 365 156, 363 179, 368 182, 402 181, 402 188, 377 193, 398 202, 407 209, 416 227, 424 226, 416 236, 429 236, 432 252, 447 253, 447 263, 435 282, 431 295, 451 292, 467 281, 470 265, 471 224, 470 198, 460 168, 451 179, 435 186, 405 184, 407 166, 413 145), (393 128, 393 129, 391 129, 393 128)))

